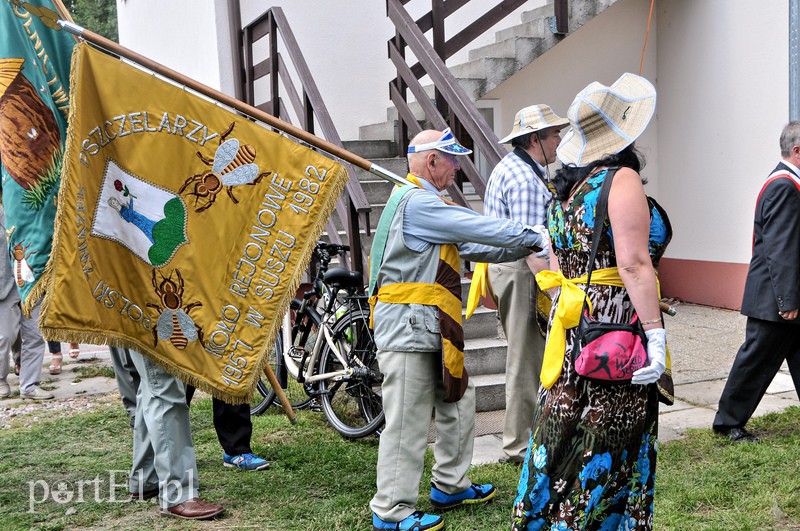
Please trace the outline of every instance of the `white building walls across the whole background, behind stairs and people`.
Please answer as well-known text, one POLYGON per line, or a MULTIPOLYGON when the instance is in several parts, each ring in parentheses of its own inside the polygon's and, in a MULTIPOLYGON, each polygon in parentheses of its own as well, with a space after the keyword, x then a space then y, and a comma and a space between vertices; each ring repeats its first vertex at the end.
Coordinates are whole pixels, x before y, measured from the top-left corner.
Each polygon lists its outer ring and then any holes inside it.
MULTIPOLYGON (((117 1, 123 45, 232 94, 226 2, 117 1)), ((519 11, 541 3, 532 0, 519 11)), ((482 2, 473 4, 485 10, 482 2)), ((269 5, 284 9, 343 139, 357 138, 360 125, 385 120, 394 71, 386 58, 392 28, 383 1, 269 5)), ((755 0, 655 5, 643 74, 656 85, 658 104, 638 142, 648 162, 647 191, 670 213, 675 237, 667 258, 689 271, 679 276, 694 278, 691 268, 703 264, 727 265, 729 278, 711 273, 697 280, 730 285, 720 289, 733 293, 741 289, 750 259, 756 195, 779 160, 778 136, 788 121, 788 5, 755 0)), ((414 17, 429 6, 430 0, 409 4, 414 17)), ((266 8, 264 2, 242 0, 242 20, 266 8)), ((617 1, 487 94, 483 105, 496 110, 498 134, 510 130, 523 106, 548 103, 563 116, 589 82, 610 84, 623 72, 638 73, 649 8, 645 0, 617 1)), ((518 21, 516 13, 505 25, 518 21)), ((449 27, 448 35, 457 30, 449 27)), ((448 63, 464 60, 465 53, 448 63)), ((686 289, 685 294, 703 288, 686 289)), ((733 293, 731 299, 738 297, 733 293)))

